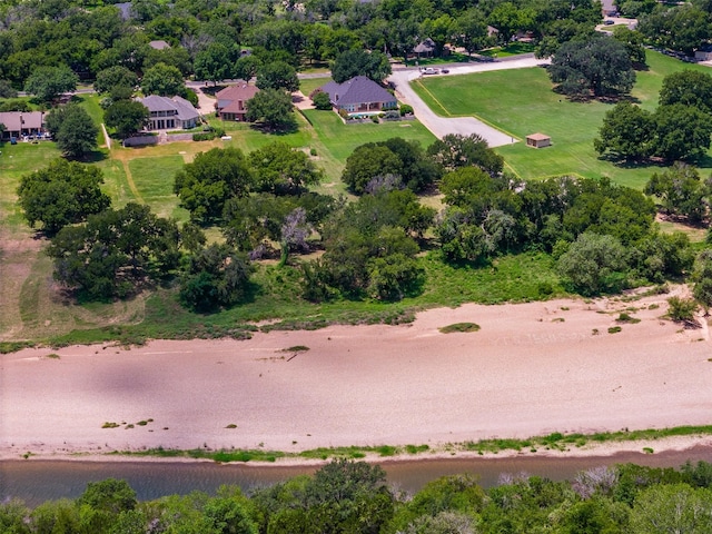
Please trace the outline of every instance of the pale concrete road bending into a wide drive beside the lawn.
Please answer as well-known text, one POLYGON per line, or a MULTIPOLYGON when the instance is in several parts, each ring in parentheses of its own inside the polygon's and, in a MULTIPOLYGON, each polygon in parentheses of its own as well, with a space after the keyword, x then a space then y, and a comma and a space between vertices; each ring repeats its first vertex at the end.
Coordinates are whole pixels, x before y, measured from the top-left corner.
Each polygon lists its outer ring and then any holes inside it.
MULTIPOLYGON (((536 67, 540 65, 546 65, 548 60, 538 60, 534 57, 517 58, 510 61, 493 61, 488 63, 476 65, 455 65, 449 68, 448 75, 442 76, 457 76, 468 75, 471 72, 487 72, 491 70, 505 70, 505 69, 524 69, 530 67, 536 67)), ((447 134, 461 134, 463 136, 469 136, 471 134, 478 134, 487 141, 491 147, 501 147, 503 145, 511 145, 517 142, 520 139, 513 138, 496 128, 485 125, 481 120, 474 117, 441 117, 433 112, 431 108, 418 97, 413 88, 411 81, 419 78, 422 75, 417 69, 413 70, 396 70, 390 75, 388 81, 393 82, 398 93, 398 99, 405 103, 413 106, 415 116, 418 118, 425 127, 433 132, 437 138, 443 138, 447 134)), ((441 75, 435 75, 441 76, 441 75)))

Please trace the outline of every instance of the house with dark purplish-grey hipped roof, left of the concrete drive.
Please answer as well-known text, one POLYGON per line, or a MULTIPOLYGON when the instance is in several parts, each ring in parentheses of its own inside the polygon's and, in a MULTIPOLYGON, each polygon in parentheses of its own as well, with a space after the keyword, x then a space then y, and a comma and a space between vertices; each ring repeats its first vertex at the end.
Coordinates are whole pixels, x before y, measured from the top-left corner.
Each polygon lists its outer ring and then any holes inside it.
POLYGON ((396 97, 365 76, 357 76, 344 83, 329 81, 319 90, 329 96, 332 106, 337 111, 344 109, 349 115, 373 113, 398 107, 396 97))

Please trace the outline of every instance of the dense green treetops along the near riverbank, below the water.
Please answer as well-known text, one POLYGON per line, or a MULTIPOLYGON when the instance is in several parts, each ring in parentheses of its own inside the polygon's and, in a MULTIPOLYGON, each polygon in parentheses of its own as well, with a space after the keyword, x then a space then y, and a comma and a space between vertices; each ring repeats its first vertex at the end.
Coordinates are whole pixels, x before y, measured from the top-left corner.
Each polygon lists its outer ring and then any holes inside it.
POLYGON ((388 486, 379 466, 337 459, 313 476, 249 494, 221 486, 215 495, 139 502, 126 482, 108 478, 89 483, 73 501, 33 510, 4 502, 0 527, 12 534, 706 533, 711 485, 712 465, 705 462, 679 469, 623 464, 583 471, 565 482, 502 474, 486 490, 473 475, 449 475, 407 495, 388 486))

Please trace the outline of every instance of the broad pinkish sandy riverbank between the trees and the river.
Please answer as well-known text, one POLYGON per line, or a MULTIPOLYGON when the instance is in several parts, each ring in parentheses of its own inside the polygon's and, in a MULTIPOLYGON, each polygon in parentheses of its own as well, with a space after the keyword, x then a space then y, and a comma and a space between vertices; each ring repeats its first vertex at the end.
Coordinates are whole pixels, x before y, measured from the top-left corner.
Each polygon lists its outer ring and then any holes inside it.
MULTIPOLYGON (((492 437, 710 424, 708 328, 664 320, 668 297, 465 305, 404 326, 0 355, 0 457, 158 446, 442 451, 492 437), (640 323, 619 325, 626 309, 640 323), (438 330, 461 322, 481 330, 438 330), (285 350, 295 346, 309 349, 285 350)), ((686 437, 653 448, 711 443, 686 437)))

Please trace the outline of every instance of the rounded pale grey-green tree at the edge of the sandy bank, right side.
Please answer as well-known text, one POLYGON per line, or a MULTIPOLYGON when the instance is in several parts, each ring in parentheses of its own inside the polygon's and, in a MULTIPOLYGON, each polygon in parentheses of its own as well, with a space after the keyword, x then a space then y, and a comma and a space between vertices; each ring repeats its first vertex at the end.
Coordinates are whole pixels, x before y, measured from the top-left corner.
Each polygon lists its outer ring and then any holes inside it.
POLYGON ((625 279, 625 249, 613 236, 584 233, 560 258, 557 270, 584 296, 620 290, 625 279))

